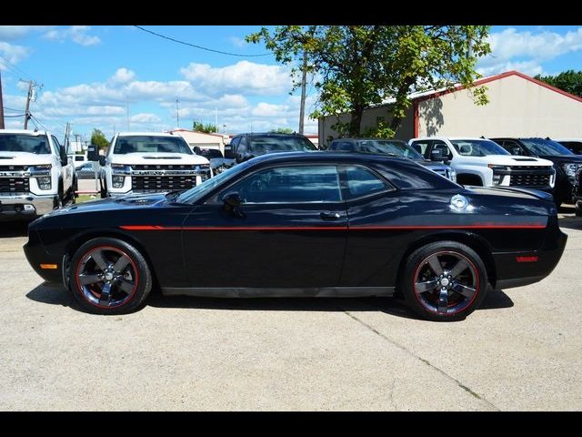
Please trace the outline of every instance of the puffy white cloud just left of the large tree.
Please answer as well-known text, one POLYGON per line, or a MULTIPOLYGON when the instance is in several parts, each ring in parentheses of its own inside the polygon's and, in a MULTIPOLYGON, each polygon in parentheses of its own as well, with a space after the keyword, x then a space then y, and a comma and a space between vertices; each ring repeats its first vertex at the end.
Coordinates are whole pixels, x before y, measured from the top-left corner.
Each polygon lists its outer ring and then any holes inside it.
POLYGON ((292 88, 290 70, 286 67, 249 61, 221 67, 191 63, 181 68, 180 73, 194 86, 215 94, 226 92, 267 96, 284 94, 292 88))

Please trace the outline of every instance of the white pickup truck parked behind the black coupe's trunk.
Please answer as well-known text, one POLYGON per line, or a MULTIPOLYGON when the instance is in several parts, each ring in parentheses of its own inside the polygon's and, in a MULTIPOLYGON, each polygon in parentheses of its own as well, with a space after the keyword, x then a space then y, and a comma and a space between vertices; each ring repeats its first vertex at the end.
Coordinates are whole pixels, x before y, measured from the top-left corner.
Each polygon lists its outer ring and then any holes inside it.
POLYGON ((447 158, 461 185, 535 188, 553 193, 556 184, 556 170, 551 161, 510 155, 489 139, 421 137, 412 138, 408 144, 427 159, 447 158))

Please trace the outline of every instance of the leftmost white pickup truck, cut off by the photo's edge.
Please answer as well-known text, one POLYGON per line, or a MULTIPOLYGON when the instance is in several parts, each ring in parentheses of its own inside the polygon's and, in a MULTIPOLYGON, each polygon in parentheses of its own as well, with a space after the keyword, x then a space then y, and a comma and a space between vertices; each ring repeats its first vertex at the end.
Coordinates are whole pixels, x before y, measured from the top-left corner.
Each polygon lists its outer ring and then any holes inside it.
POLYGON ((75 167, 46 131, 0 129, 0 219, 35 219, 75 203, 75 167))

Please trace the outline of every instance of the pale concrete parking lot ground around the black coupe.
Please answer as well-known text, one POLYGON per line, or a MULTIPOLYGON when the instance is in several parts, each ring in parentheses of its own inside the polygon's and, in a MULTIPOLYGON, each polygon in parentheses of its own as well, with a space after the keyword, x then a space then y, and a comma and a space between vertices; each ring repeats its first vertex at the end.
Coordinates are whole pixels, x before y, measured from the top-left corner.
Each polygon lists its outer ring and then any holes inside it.
POLYGON ((49 288, 2 224, 0 410, 580 410, 582 219, 550 277, 467 320, 395 299, 152 296, 103 317, 49 288))

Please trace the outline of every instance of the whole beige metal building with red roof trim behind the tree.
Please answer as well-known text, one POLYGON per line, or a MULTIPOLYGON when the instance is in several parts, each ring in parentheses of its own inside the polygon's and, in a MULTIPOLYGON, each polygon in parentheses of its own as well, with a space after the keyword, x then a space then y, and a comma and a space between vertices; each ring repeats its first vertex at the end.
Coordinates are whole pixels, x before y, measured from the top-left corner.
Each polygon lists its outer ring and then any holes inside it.
MULTIPOLYGON (((473 86, 487 86, 489 103, 477 106, 465 86, 416 93, 396 132, 412 137, 572 137, 582 138, 582 98, 517 71, 484 77, 473 86)), ((362 128, 389 123, 390 103, 369 107, 362 128)), ((319 144, 338 137, 332 126, 349 115, 319 118, 319 144)))

